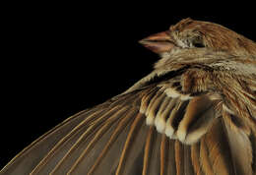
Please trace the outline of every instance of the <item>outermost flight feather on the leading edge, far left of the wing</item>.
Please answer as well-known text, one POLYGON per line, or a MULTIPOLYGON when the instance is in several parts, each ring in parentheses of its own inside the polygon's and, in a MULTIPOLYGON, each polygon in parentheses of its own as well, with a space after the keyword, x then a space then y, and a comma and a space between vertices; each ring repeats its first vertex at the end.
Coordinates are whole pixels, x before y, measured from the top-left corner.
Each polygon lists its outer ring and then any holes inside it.
POLYGON ((81 111, 80 113, 68 118, 49 132, 34 141, 30 146, 26 147, 18 155, 16 155, 0 174, 29 174, 34 166, 47 154, 50 149, 60 141, 63 135, 67 135, 75 128, 87 114, 96 112, 96 110, 81 111), (43 149, 42 149, 43 147, 43 149), (34 158, 36 155, 36 158, 34 158), (33 160, 33 161, 32 161, 33 160))

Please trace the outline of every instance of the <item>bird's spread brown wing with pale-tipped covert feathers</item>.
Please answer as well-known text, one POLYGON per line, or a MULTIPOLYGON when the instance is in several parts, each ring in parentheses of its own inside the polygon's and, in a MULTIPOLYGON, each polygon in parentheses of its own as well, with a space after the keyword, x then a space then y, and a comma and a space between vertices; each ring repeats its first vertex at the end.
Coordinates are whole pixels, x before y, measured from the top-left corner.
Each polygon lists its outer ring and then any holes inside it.
POLYGON ((200 75, 174 70, 82 111, 0 174, 255 174, 255 125, 224 108, 221 92, 200 75))

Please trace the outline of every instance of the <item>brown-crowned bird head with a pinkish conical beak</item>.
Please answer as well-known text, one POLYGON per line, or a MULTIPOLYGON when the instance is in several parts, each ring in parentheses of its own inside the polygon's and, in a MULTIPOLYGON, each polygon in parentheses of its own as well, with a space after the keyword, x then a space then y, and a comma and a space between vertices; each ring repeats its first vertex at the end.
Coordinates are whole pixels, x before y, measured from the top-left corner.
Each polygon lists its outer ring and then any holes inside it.
POLYGON ((190 18, 150 35, 140 43, 160 55, 183 48, 211 48, 234 55, 256 54, 256 44, 252 40, 221 25, 190 18))

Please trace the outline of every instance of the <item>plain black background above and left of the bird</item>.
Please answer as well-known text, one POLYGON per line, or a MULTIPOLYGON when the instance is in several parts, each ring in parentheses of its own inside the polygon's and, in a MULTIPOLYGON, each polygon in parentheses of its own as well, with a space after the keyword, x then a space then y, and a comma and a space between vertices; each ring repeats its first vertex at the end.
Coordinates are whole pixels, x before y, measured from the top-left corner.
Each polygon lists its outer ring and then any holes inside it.
POLYGON ((238 7, 210 13, 210 4, 206 7, 156 2, 16 4, 17 11, 4 16, 1 166, 69 116, 150 73, 159 57, 138 43, 149 34, 191 17, 256 40, 250 11, 238 7))

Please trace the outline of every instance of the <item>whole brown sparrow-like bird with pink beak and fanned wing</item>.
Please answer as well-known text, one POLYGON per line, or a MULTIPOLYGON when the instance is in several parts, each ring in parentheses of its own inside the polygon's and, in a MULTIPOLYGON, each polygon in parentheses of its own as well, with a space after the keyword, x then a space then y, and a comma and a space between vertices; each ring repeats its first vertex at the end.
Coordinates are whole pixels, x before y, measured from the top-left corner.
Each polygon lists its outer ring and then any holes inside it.
POLYGON ((140 41, 160 55, 134 86, 79 112, 0 174, 256 174, 256 44, 183 19, 140 41))

